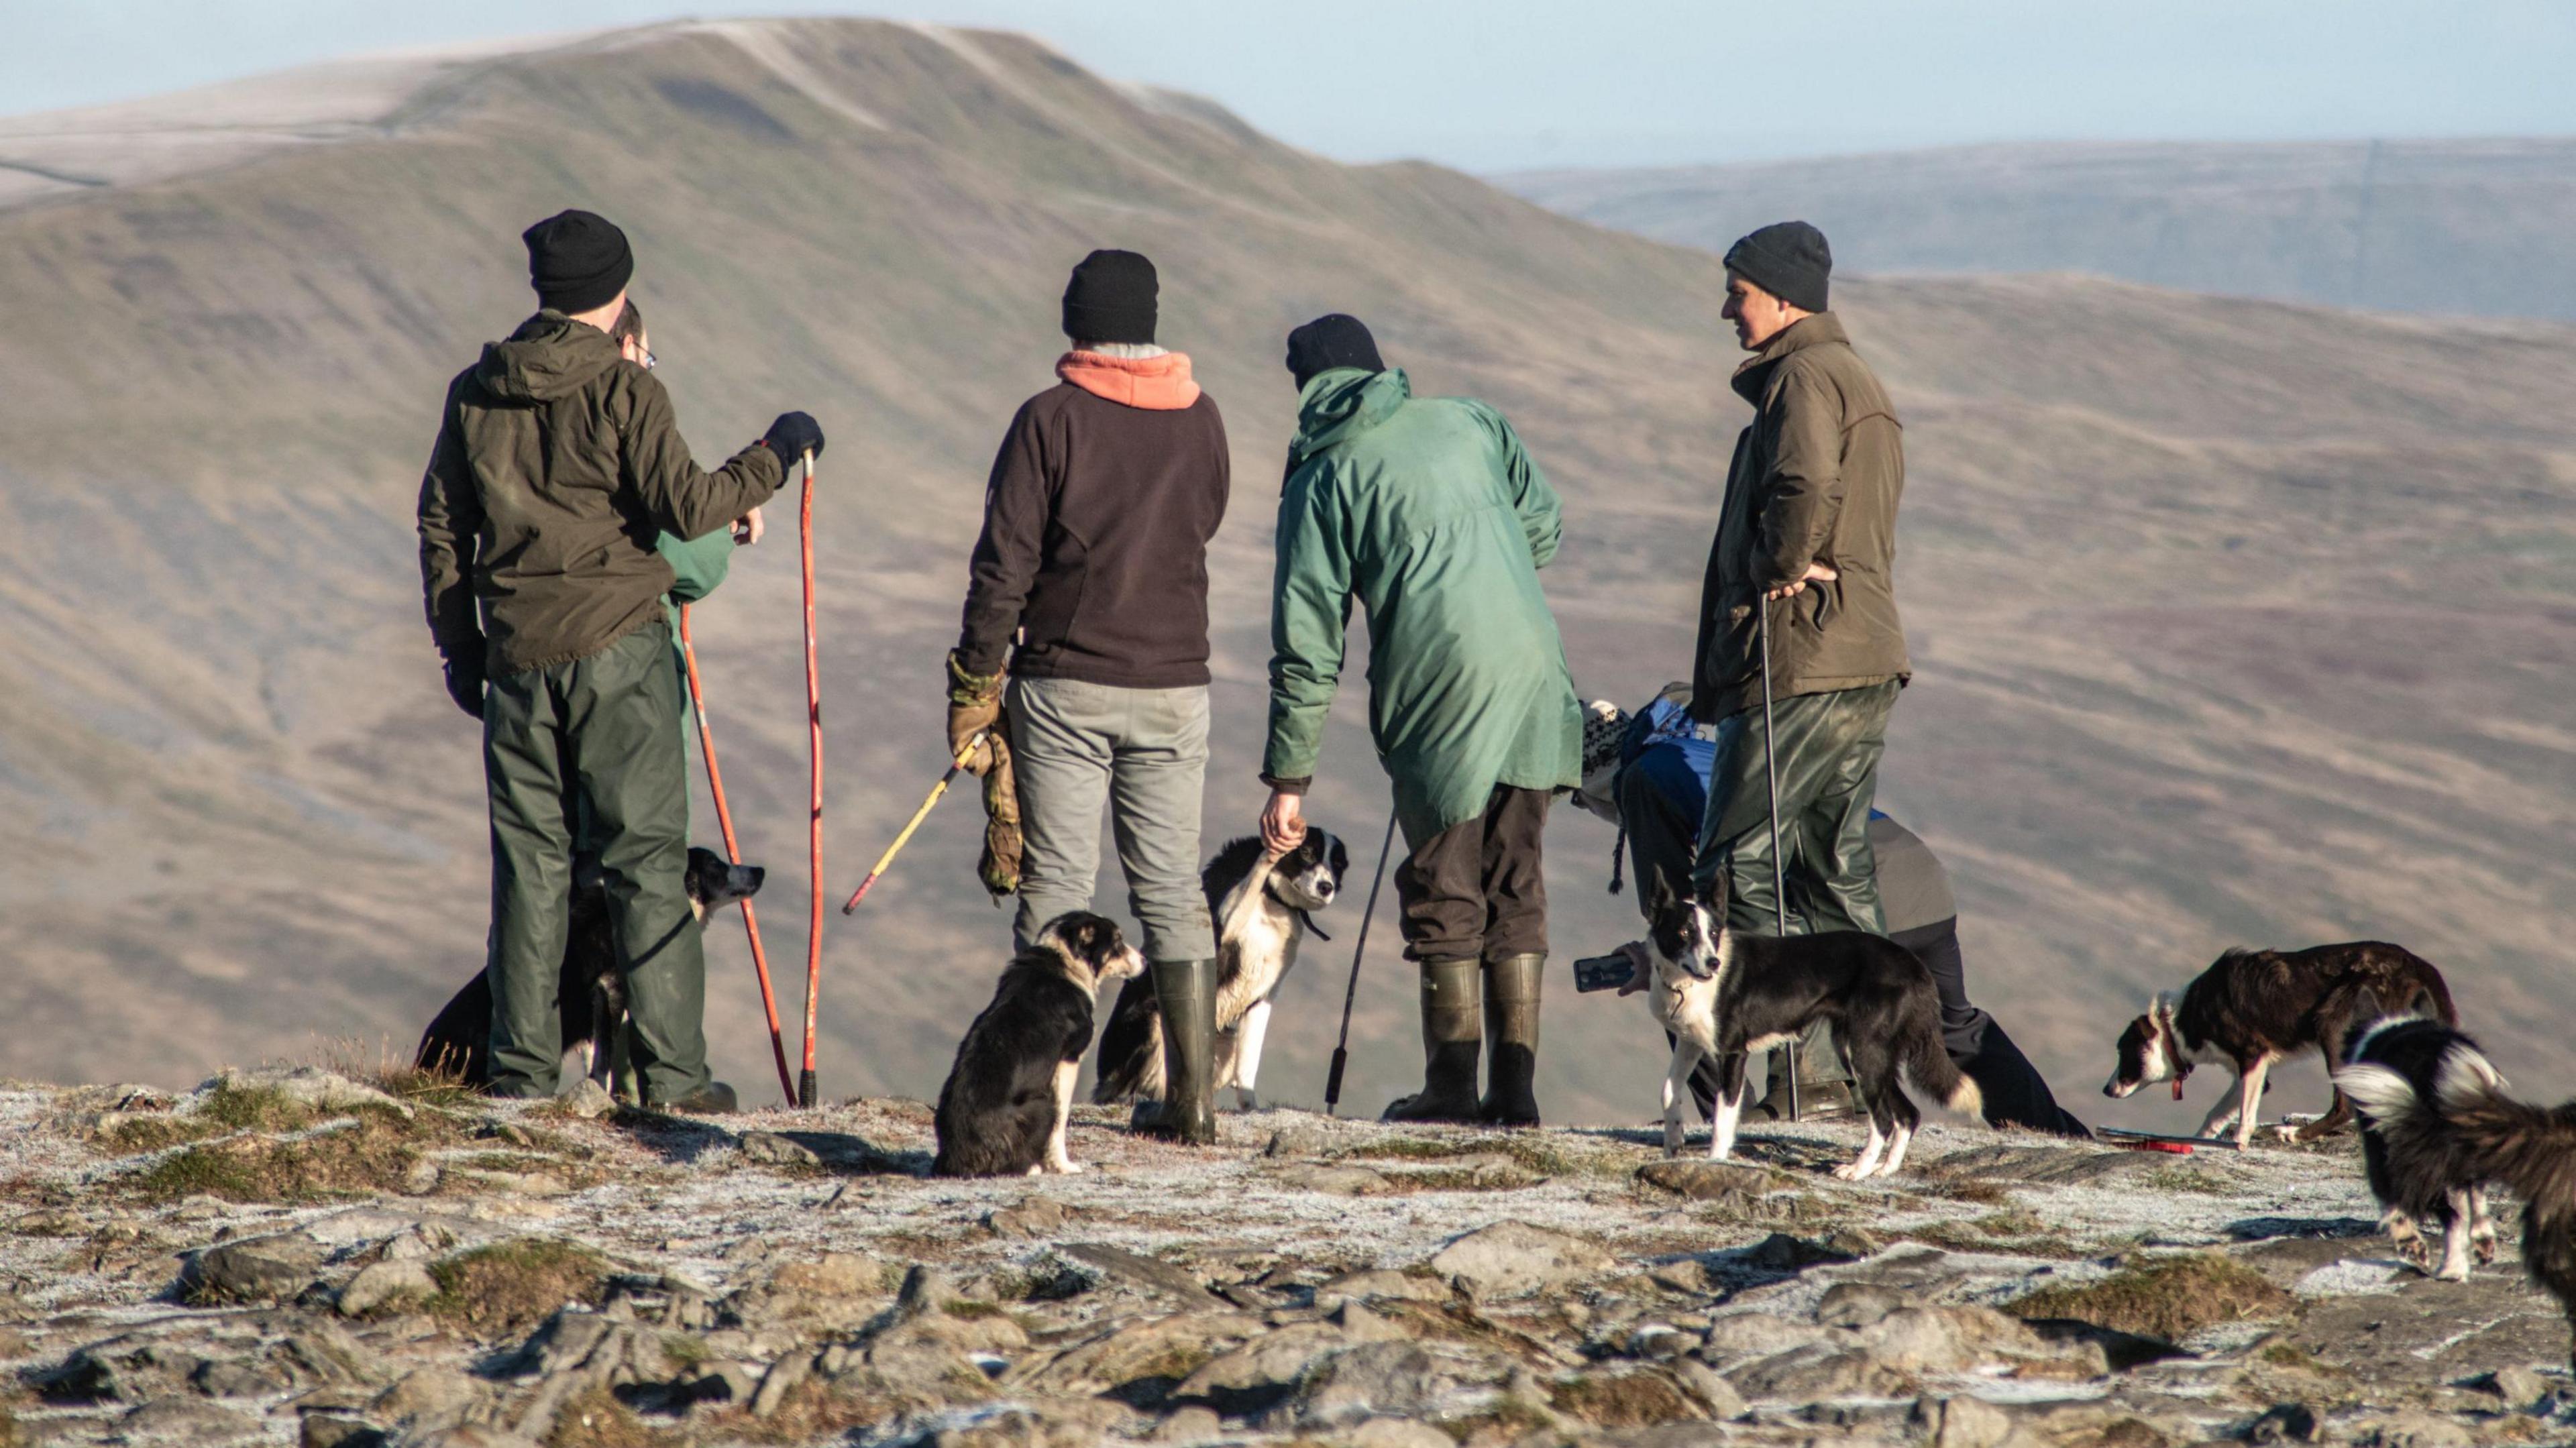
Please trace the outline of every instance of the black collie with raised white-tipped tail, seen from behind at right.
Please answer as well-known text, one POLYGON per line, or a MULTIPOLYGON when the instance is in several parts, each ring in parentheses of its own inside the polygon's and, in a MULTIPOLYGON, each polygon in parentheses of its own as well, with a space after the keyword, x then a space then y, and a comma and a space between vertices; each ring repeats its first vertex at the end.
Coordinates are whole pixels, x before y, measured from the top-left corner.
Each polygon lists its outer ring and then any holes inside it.
MULTIPOLYGON (((2378 1000, 2365 1007, 2378 1015, 2378 1000)), ((2429 1221, 2442 1229, 2437 1278, 2465 1283, 2473 1244, 2481 1262, 2494 1262, 2481 1152, 2442 1110, 2504 1085, 2478 1043, 2437 1020, 2388 1015, 2352 1036, 2334 1085, 2362 1113, 2362 1170, 2380 1198, 2380 1232, 2398 1252, 2434 1273, 2416 1229, 2429 1221)))

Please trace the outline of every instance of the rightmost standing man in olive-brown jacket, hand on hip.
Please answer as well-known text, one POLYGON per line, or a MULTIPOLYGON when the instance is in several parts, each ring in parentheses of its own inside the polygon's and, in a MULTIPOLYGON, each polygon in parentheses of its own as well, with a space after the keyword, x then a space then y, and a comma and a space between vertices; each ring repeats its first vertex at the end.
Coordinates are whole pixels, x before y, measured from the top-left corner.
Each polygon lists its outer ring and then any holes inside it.
MULTIPOLYGON (((1896 621, 1906 459, 1888 392, 1826 312, 1832 265, 1806 222, 1762 227, 1726 252, 1726 317, 1754 353, 1734 386, 1754 420, 1736 435, 1700 590, 1692 714, 1716 724, 1718 757, 1698 881, 1723 873, 1726 922, 1754 935, 1777 930, 1759 618, 1790 930, 1886 935, 1868 830, 1888 711, 1914 672, 1896 621)), ((1847 1080, 1821 1028, 1806 1046, 1814 1082, 1847 1080)))

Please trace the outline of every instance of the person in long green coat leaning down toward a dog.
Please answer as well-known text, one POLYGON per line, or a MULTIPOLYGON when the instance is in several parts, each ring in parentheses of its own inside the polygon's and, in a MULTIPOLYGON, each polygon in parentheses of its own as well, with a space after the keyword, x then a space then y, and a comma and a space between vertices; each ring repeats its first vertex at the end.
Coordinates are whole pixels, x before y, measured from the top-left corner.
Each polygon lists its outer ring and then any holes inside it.
POLYGON ((1262 837, 1303 837, 1352 598, 1368 611, 1368 719, 1409 855, 1404 953, 1422 971, 1422 1090, 1391 1121, 1538 1123, 1548 958, 1540 827, 1579 783, 1582 714, 1538 569, 1556 490, 1484 402, 1414 397, 1352 317, 1288 335, 1298 430, 1270 613, 1262 837), (1481 1046, 1492 1074, 1476 1095, 1481 1046))

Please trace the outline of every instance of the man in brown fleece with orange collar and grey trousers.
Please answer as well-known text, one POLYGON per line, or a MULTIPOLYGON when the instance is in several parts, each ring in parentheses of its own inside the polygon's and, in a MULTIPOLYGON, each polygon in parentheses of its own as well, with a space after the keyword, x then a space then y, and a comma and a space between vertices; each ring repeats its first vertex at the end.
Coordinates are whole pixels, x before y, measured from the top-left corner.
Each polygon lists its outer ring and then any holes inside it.
MULTIPOLYGON (((948 654, 948 750, 1007 719, 1025 830, 1020 948, 1087 910, 1110 806, 1162 1005, 1164 1103, 1139 1126, 1216 1139, 1216 933, 1198 889, 1208 768, 1208 538, 1226 518, 1226 423, 1190 358, 1154 345, 1154 263, 1100 250, 1064 289, 1059 384, 1002 438, 948 654)), ((1007 881, 992 879, 989 886, 1007 881)))

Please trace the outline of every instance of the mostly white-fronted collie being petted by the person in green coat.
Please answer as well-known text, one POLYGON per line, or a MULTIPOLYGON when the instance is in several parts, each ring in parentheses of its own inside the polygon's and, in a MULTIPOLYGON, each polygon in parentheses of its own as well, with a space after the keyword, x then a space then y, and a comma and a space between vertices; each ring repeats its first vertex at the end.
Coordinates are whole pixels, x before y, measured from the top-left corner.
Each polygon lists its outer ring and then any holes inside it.
MULTIPOLYGON (((1278 861, 1262 863, 1262 837, 1244 835, 1198 871, 1208 891, 1208 917, 1216 920, 1216 1087, 1234 1087, 1234 1103, 1255 1110, 1255 1082, 1262 1074, 1262 1041, 1270 1033, 1270 1000, 1278 995, 1296 948, 1314 930, 1309 917, 1332 904, 1350 873, 1350 850, 1329 830, 1309 827, 1306 837, 1278 861)), ((1133 979, 1118 992, 1108 1028, 1100 1031, 1100 1080, 1092 1100, 1162 1100, 1162 1005, 1154 982, 1133 979)))

